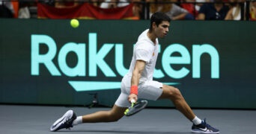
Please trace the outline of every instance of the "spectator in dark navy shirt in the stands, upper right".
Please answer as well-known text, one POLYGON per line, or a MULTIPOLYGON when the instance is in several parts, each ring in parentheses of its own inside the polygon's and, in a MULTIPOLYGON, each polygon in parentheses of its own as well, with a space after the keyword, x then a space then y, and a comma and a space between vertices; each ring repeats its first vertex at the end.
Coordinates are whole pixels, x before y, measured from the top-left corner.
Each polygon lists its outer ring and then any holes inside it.
POLYGON ((228 6, 222 0, 203 4, 198 12, 198 20, 224 20, 228 13, 228 6))

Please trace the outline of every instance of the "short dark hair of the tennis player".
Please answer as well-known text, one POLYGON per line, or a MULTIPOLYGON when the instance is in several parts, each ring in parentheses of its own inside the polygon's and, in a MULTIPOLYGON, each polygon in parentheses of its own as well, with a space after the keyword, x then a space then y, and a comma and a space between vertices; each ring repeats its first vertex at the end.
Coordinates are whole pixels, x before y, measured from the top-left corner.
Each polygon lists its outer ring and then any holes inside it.
POLYGON ((152 24, 153 22, 156 23, 157 27, 162 21, 168 21, 171 22, 171 19, 169 16, 167 16, 165 13, 162 12, 156 12, 153 13, 153 15, 150 18, 150 31, 152 30, 152 24))

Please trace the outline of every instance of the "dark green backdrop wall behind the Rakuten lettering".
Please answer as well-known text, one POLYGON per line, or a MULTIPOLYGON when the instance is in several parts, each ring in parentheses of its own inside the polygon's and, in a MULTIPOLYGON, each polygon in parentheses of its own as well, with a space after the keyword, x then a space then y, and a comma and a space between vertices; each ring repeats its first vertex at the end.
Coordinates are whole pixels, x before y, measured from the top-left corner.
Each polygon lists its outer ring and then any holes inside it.
MULTIPOLYGON (((94 92, 76 92, 69 80, 115 81, 122 76, 115 69, 115 49, 104 59, 117 74, 106 77, 100 69, 97 77, 67 77, 58 66, 58 57, 53 60, 61 76, 52 76, 47 68, 40 66, 40 75, 31 75, 31 35, 51 36, 57 51, 67 42, 86 44, 86 74, 88 74, 88 33, 97 33, 97 47, 104 43, 124 45, 124 66, 129 68, 132 46, 138 35, 149 28, 148 21, 129 20, 79 20, 79 28, 70 27, 69 19, 0 19, 0 103, 46 104, 46 105, 88 105, 97 93, 99 103, 112 106, 120 93, 119 89, 94 92)), ((223 109, 256 109, 256 41, 255 22, 229 21, 173 21, 170 33, 159 39, 159 53, 156 68, 162 68, 162 52, 168 45, 178 43, 189 50, 191 64, 186 67, 189 74, 181 79, 165 77, 161 82, 177 82, 192 107, 223 109), (210 76, 210 57, 201 57, 201 77, 192 78, 192 45, 210 44, 219 52, 218 79, 210 76)), ((47 48, 40 48, 46 53, 47 48)), ((58 52, 57 52, 58 55, 58 52)), ((76 66, 76 54, 68 54, 67 64, 76 66)), ((173 106, 168 100, 150 101, 149 106, 173 106)))

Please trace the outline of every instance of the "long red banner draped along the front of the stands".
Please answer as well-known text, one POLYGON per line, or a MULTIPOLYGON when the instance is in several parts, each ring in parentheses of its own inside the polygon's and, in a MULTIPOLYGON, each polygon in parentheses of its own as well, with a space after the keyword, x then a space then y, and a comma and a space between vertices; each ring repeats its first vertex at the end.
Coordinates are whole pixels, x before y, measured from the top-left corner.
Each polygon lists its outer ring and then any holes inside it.
POLYGON ((37 4, 40 19, 138 19, 132 13, 133 4, 125 7, 103 9, 84 3, 76 7, 56 8, 47 4, 37 4))

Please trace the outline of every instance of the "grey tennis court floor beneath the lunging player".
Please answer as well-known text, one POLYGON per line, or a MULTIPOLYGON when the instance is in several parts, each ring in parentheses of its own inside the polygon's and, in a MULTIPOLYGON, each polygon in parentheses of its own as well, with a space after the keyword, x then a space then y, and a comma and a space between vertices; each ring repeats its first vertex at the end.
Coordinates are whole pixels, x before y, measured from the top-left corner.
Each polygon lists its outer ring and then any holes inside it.
MULTIPOLYGON (((68 109, 76 115, 85 115, 106 107, 24 106, 0 105, 0 132, 3 134, 52 134, 49 127, 68 109)), ((255 110, 193 109, 199 118, 218 128, 223 134, 254 134, 255 110)), ((81 124, 71 130, 60 130, 63 134, 186 134, 192 123, 176 109, 146 108, 136 115, 121 118, 118 122, 81 124)))

